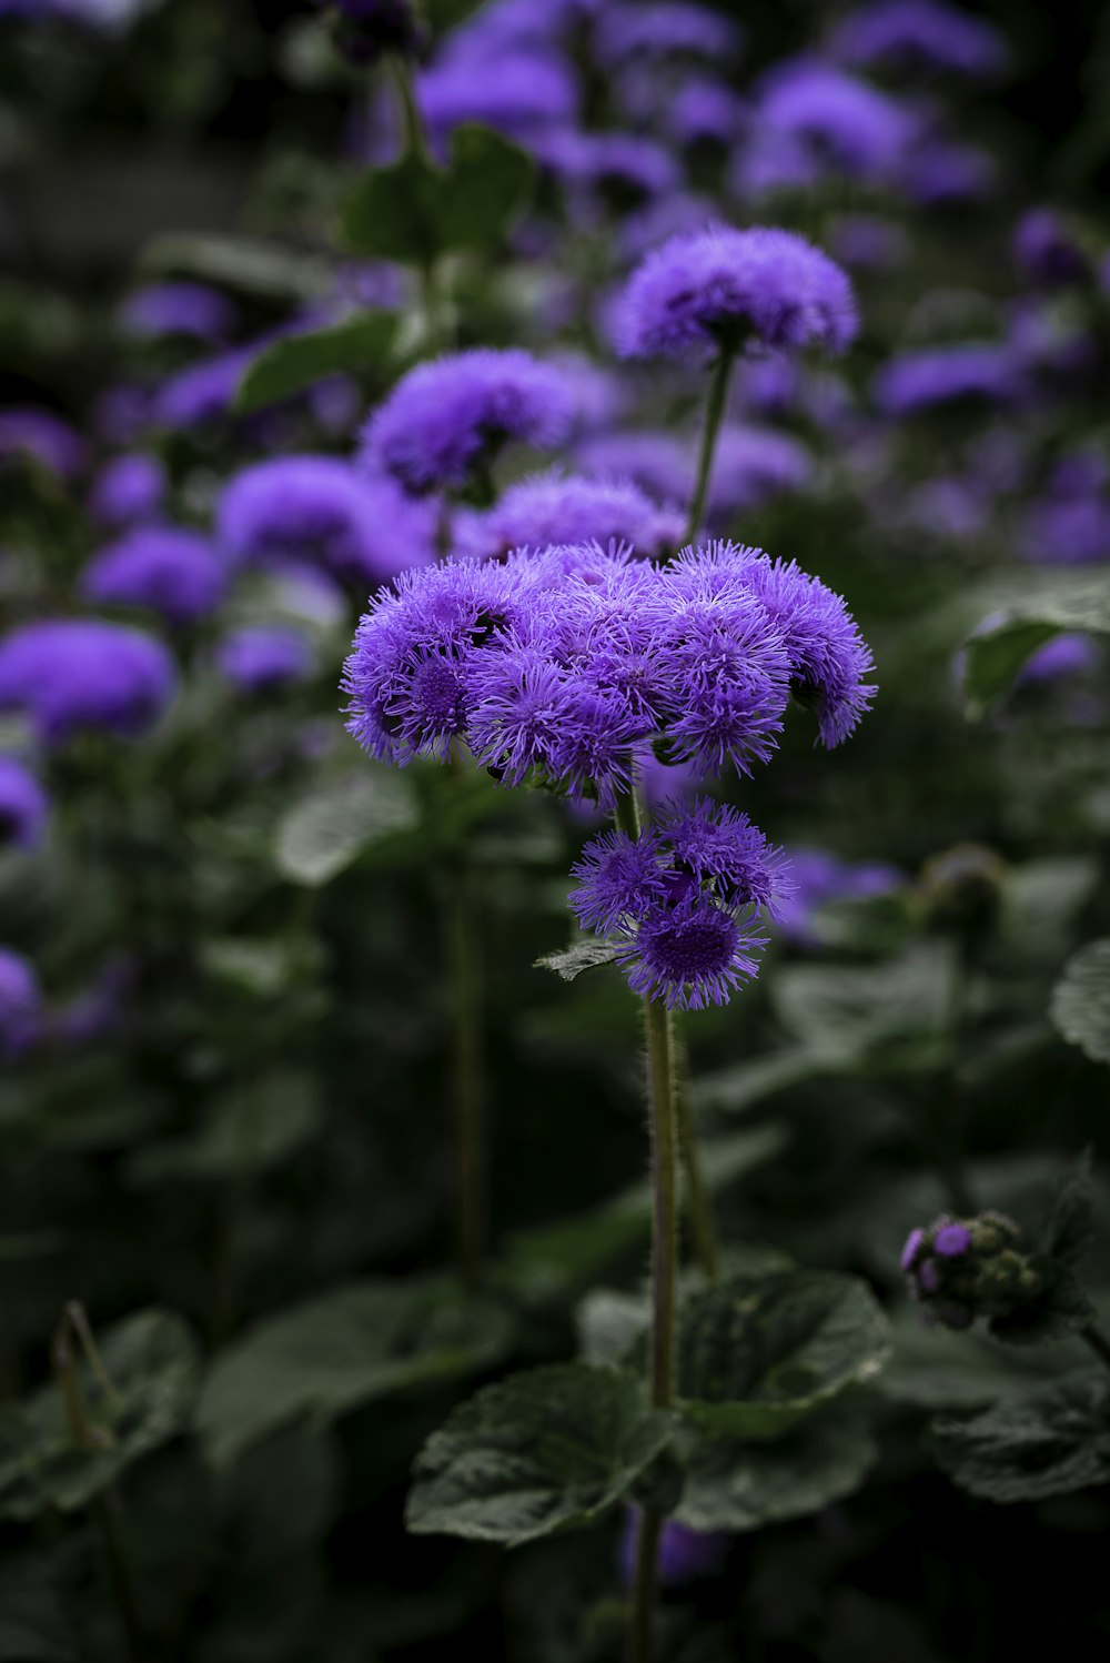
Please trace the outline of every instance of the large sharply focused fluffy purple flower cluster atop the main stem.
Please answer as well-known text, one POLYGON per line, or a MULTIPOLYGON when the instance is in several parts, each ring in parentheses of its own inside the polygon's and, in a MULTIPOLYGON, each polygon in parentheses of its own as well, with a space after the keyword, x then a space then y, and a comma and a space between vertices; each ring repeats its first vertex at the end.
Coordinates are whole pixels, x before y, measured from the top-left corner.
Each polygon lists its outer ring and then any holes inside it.
POLYGON ((731 542, 670 565, 572 545, 404 574, 347 660, 349 727, 386 762, 452 740, 503 780, 611 805, 655 748, 698 773, 766 762, 791 693, 836 745, 874 688, 842 599, 731 542))

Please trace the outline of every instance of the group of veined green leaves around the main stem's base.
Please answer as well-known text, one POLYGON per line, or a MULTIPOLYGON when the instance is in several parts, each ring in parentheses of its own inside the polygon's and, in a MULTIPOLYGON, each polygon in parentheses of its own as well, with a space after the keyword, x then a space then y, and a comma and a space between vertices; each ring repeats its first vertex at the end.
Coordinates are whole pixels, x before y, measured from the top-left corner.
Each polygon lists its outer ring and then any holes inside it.
POLYGON ((675 1515, 746 1530, 854 1487, 871 1458, 847 1404, 887 1354, 862 1282, 831 1272, 729 1274, 680 1312, 673 1410, 648 1407, 646 1307, 620 1305, 605 1362, 557 1364, 487 1387, 432 1435, 414 1468, 409 1528, 517 1545, 656 1498, 681 1472, 675 1515), (635 1309, 633 1309, 635 1307, 635 1309), (615 1355, 616 1354, 616 1355, 615 1355), (613 1362, 620 1359, 618 1365, 613 1362))

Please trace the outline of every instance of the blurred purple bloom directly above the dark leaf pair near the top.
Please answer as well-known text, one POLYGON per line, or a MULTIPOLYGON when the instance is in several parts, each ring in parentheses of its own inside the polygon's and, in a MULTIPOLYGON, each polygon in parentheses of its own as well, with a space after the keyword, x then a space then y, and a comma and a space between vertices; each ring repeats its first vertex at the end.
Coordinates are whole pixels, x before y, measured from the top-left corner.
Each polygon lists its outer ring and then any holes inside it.
POLYGON ((578 113, 577 78, 552 48, 507 50, 484 58, 480 68, 469 55, 442 58, 420 75, 417 96, 440 143, 462 121, 527 141, 552 126, 570 126, 578 113))

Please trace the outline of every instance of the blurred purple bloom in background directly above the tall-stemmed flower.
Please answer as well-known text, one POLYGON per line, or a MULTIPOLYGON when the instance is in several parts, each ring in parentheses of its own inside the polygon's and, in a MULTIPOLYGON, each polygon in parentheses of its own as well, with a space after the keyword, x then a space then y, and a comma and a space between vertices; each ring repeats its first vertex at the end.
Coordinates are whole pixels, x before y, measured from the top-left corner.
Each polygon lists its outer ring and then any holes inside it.
POLYGON ((912 113, 828 63, 796 60, 764 81, 738 183, 748 193, 813 185, 829 171, 881 183, 917 136, 912 113))

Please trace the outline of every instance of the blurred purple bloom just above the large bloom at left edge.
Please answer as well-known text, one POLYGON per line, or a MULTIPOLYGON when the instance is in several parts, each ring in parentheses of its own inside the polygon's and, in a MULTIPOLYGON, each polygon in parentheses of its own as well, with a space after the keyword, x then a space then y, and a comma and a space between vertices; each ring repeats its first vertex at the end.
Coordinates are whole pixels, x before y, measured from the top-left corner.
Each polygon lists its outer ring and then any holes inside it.
POLYGON ((228 592, 228 567, 198 532, 138 526, 93 555, 80 590, 105 605, 148 607, 181 627, 216 610, 228 592))

